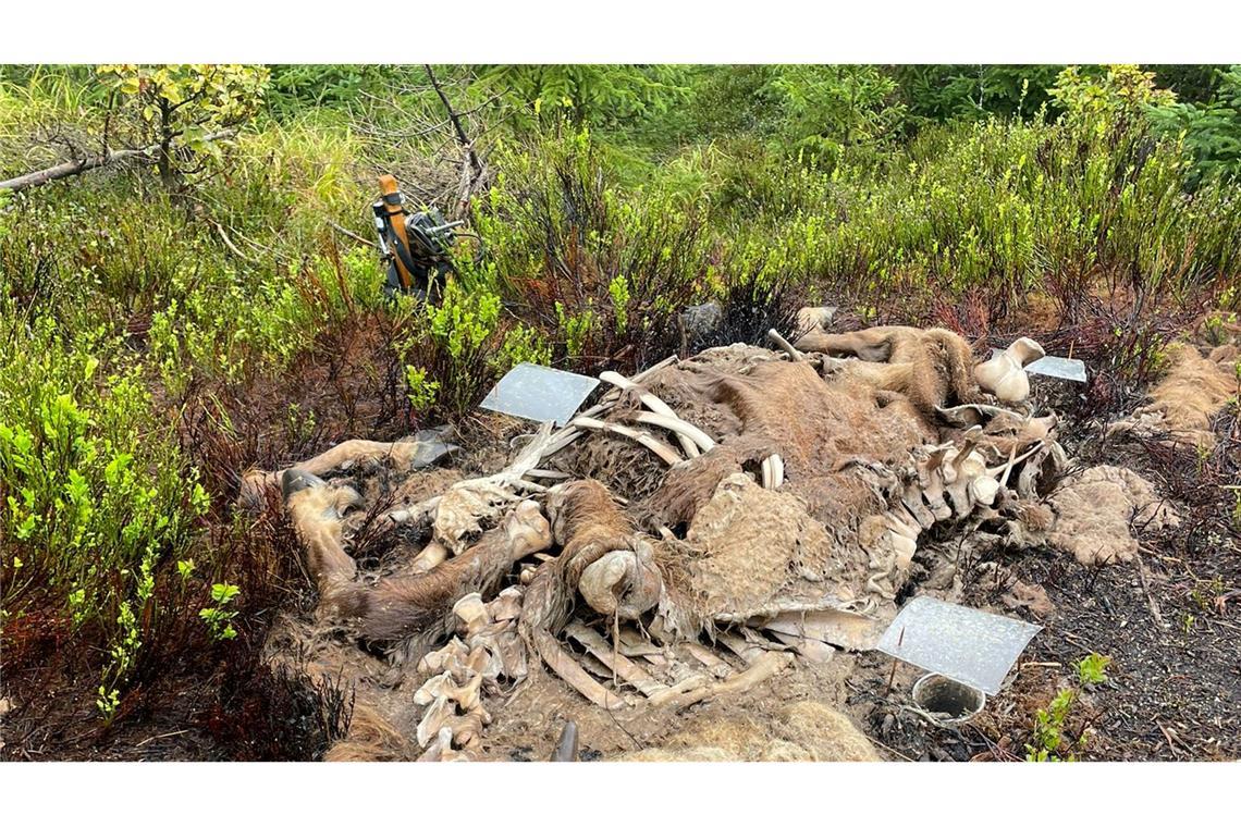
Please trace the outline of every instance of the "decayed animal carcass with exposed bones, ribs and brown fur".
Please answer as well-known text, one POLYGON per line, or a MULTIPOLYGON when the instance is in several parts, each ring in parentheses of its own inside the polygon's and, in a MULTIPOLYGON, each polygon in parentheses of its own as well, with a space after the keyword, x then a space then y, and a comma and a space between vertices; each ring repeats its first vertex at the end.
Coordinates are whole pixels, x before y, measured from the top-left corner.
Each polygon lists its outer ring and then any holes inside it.
POLYGON ((366 511, 350 474, 419 474, 452 453, 443 431, 344 443, 279 475, 252 472, 243 496, 279 485, 320 614, 417 663, 426 760, 479 756, 486 699, 540 663, 608 709, 690 705, 794 656, 872 646, 937 524, 988 521, 1026 539, 1046 529, 1040 497, 1066 458, 1055 415, 1023 407, 1037 343, 977 368, 938 329, 815 329, 781 347, 604 372, 597 404, 565 428, 544 424, 501 471, 385 512, 380 526, 419 547, 379 579, 349 554, 366 511), (680 642, 711 671, 720 641, 742 672, 669 686, 620 656, 680 642), (596 679, 583 668, 596 661, 639 694, 596 679))

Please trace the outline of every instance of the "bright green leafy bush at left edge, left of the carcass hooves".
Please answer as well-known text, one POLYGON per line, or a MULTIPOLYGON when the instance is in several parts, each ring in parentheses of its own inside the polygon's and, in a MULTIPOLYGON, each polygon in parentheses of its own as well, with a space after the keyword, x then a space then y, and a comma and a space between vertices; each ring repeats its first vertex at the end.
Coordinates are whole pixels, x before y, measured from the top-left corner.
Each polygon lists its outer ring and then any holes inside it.
POLYGON ((154 622, 155 569, 187 547, 208 501, 141 369, 105 332, 62 337, 5 307, 0 329, 0 614, 11 632, 53 608, 109 641, 109 717, 154 622))

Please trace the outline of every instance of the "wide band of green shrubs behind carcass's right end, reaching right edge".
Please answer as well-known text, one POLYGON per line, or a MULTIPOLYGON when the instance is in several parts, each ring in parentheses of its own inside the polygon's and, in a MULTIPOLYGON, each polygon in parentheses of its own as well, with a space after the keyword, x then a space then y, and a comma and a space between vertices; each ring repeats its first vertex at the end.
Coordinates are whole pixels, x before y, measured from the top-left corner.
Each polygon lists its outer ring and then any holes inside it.
POLYGON ((1184 144, 1113 114, 926 129, 881 169, 759 153, 725 174, 719 210, 771 269, 853 301, 900 296, 906 317, 974 289, 993 316, 1031 291, 1069 316, 1096 291, 1186 301, 1241 264, 1241 201, 1219 185, 1188 195, 1184 144))

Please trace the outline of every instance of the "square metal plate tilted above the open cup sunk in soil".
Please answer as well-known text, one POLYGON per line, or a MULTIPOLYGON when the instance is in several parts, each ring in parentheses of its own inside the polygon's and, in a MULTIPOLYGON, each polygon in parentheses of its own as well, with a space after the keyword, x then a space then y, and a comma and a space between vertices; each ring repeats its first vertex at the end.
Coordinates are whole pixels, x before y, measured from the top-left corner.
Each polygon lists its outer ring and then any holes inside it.
POLYGON ((905 604, 879 651, 995 694, 1042 626, 934 598, 905 604))

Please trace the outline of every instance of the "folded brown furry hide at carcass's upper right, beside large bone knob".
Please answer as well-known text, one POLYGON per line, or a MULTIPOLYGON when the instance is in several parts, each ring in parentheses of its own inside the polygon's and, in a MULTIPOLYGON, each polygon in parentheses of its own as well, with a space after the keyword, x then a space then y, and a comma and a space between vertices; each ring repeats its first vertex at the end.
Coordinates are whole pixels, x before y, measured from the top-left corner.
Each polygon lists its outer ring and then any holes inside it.
POLYGON ((885 326, 848 334, 810 331, 795 343, 802 351, 829 356, 855 356, 844 366, 877 391, 896 393, 928 420, 936 405, 978 402, 980 393, 970 374, 973 352, 957 334, 943 327, 885 326))

